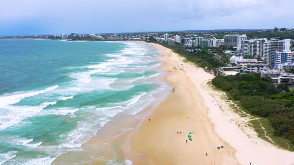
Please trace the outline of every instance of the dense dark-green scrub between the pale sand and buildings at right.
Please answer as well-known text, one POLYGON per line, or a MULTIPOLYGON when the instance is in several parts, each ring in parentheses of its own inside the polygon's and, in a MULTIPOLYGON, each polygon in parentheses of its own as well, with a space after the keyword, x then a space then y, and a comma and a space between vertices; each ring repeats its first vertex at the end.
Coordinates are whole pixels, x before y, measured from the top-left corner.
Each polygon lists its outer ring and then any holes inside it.
POLYGON ((285 85, 275 86, 259 74, 215 77, 212 83, 226 91, 229 99, 238 101, 251 114, 265 118, 273 135, 294 144, 294 91, 285 85))

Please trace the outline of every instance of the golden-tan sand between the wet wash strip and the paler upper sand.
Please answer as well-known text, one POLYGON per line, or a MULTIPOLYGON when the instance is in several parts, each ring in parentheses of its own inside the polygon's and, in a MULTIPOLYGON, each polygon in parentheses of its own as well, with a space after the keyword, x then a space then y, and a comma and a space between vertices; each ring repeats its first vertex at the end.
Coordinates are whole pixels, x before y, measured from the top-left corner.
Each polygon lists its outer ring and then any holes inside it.
MULTIPOLYGON (((165 63, 159 67, 159 70, 166 72, 166 79, 161 78, 161 81, 175 87, 175 92, 160 102, 148 117, 150 122, 146 119, 136 128, 136 133, 129 135, 130 142, 123 147, 127 158, 133 165, 239 164, 234 156, 235 149, 215 133, 201 95, 186 76, 184 70, 190 64, 173 59, 175 54, 161 45, 139 43, 152 45, 163 55, 156 58, 165 63), (183 70, 179 68, 180 64, 183 64, 183 70), (181 131, 180 135, 176 134, 177 130, 181 131), (190 131, 195 132, 195 140, 186 144, 190 131), (126 149, 128 145, 131 149, 126 149), (220 146, 224 148, 218 150, 220 146)), ((207 79, 212 78, 208 75, 207 79)))

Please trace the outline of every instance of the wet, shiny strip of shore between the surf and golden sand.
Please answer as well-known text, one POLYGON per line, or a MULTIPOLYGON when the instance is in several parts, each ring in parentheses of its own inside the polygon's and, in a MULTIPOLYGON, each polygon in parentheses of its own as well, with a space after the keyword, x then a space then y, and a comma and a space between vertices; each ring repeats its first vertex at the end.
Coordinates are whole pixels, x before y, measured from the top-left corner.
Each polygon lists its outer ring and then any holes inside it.
MULTIPOLYGON (((107 42, 107 41, 106 41, 107 42)), ((156 53, 156 51, 151 51, 156 53)), ((152 61, 158 62, 154 58, 152 61)), ((150 79, 151 82, 168 86, 167 83, 160 81, 163 76, 163 72, 150 79)), ((52 165, 63 165, 70 163, 82 163, 87 165, 105 165, 105 164, 127 164, 130 165, 130 161, 126 159, 125 153, 121 146, 126 142, 128 136, 134 133, 135 129, 139 127, 143 118, 147 118, 157 105, 164 100, 168 95, 166 87, 160 87, 160 92, 153 93, 153 98, 150 100, 147 106, 134 114, 117 114, 111 121, 107 122, 94 136, 81 145, 81 149, 77 151, 69 151, 58 156, 52 165), (163 90, 162 90, 163 89, 163 90), (71 158, 70 160, 68 158, 71 158), (122 162, 126 161, 126 162, 122 162)), ((140 108, 141 109, 141 108, 140 108)))

